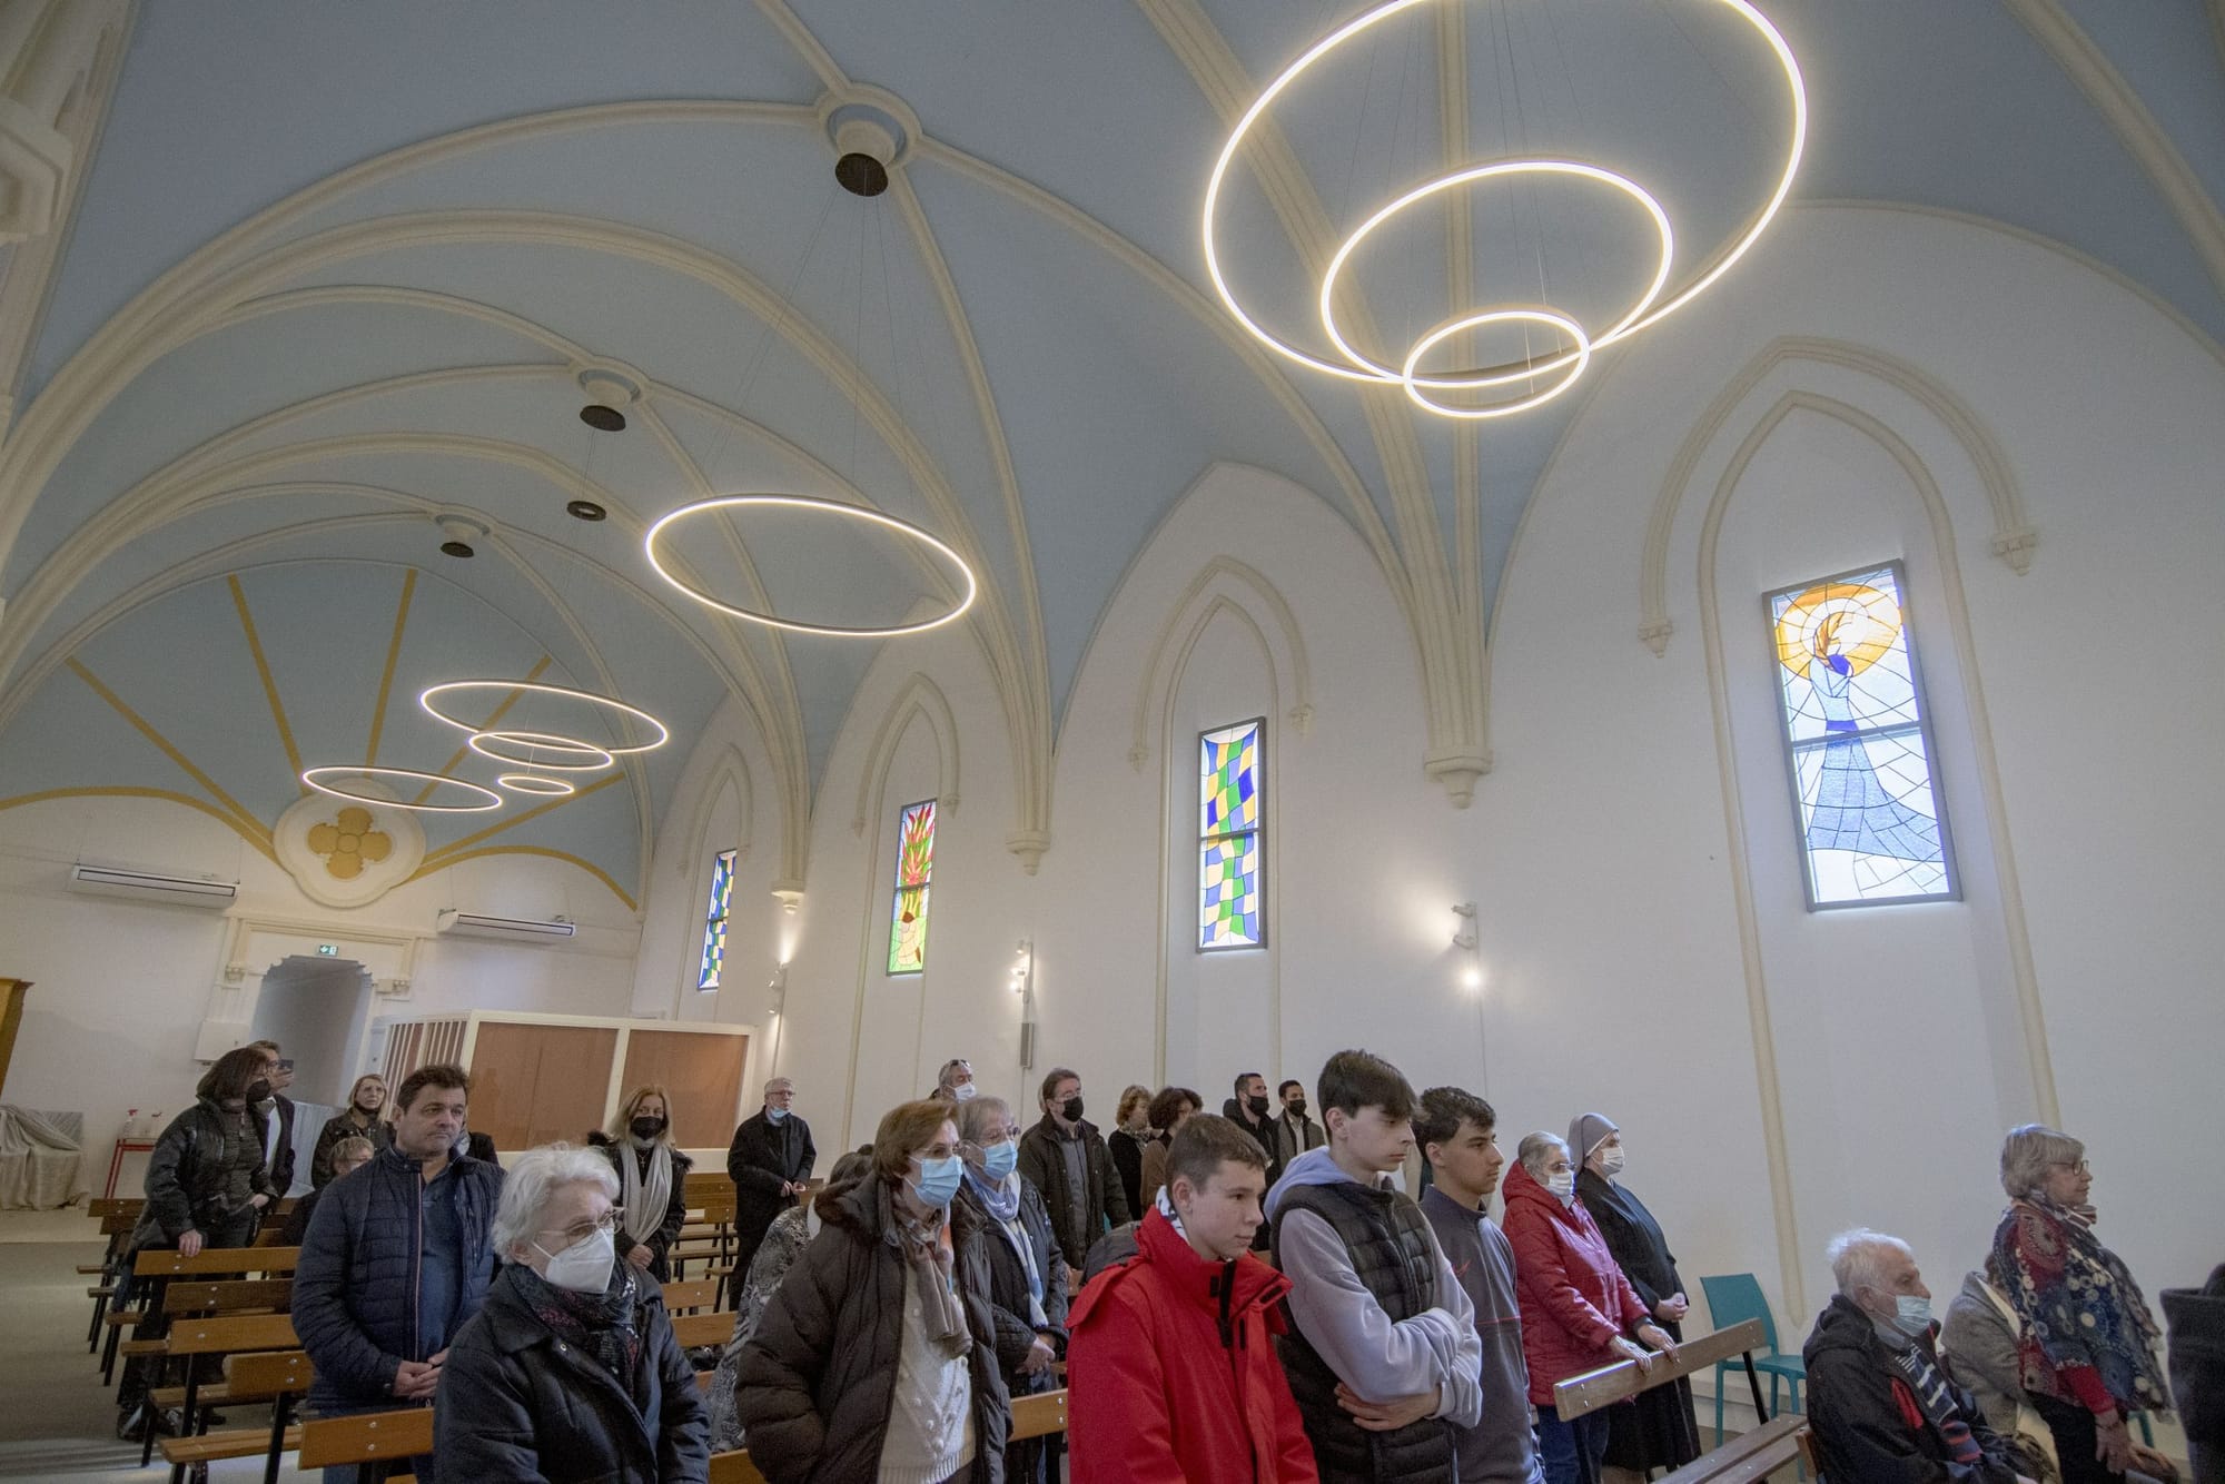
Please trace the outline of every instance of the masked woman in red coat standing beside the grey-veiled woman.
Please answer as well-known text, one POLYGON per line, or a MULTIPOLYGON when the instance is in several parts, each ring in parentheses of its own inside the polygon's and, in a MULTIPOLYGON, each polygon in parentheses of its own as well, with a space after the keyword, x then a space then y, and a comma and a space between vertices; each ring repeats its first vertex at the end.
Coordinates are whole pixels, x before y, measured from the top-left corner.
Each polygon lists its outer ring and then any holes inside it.
POLYGON ((1575 1164, 1558 1135, 1522 1139, 1506 1175, 1506 1239, 1515 1248, 1522 1295, 1522 1355, 1537 1406, 1537 1462, 1546 1484, 1598 1484, 1606 1457, 1606 1413, 1562 1422, 1553 1384, 1618 1359, 1646 1366, 1653 1351, 1675 1353, 1646 1317, 1606 1237, 1575 1195, 1575 1164), (1653 1346, 1649 1351, 1646 1346, 1653 1346))

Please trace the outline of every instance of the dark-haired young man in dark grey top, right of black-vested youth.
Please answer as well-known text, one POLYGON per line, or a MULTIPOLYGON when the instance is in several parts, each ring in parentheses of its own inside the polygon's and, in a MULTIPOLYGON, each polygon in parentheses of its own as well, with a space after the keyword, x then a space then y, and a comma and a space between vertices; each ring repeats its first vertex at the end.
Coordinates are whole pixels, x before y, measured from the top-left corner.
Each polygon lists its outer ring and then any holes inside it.
POLYGON ((1422 1193, 1422 1215, 1437 1233, 1453 1277, 1475 1304, 1475 1333, 1484 1342, 1484 1417, 1453 1437, 1460 1484, 1544 1484, 1537 1442, 1531 1437, 1515 1250, 1506 1233, 1484 1215, 1484 1204, 1500 1188, 1500 1170, 1506 1168, 1497 1115, 1473 1092, 1431 1088, 1413 1115, 1413 1137, 1435 1175, 1422 1193))

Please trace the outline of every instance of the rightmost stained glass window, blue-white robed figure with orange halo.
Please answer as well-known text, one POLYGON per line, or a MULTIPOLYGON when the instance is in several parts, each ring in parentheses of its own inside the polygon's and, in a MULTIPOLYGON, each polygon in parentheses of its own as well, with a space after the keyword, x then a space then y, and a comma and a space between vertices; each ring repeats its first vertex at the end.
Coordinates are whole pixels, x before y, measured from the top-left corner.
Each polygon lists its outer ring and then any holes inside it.
POLYGON ((1900 563, 1769 594, 1809 908, 1956 897, 1900 563))

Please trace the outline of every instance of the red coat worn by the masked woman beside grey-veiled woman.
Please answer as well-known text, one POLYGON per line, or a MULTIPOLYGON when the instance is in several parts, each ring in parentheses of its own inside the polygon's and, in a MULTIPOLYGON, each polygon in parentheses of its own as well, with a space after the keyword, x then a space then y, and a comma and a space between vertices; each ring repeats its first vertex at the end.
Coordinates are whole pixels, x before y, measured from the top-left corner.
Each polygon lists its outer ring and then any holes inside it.
POLYGON ((1618 1335, 1644 1324, 1646 1306, 1622 1277, 1584 1201, 1562 1206, 1520 1164, 1506 1166, 1506 1241, 1522 1293, 1522 1355, 1531 1404, 1553 1406, 1553 1382, 1615 1359, 1618 1335))

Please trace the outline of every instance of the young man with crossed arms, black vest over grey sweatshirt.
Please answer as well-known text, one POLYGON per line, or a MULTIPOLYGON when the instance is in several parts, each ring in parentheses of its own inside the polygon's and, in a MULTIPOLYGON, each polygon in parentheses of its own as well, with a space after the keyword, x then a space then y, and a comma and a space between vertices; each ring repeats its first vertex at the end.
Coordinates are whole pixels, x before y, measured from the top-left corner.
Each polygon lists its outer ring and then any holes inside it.
POLYGON ((1388 1173, 1413 1148, 1413 1088, 1364 1050, 1317 1081, 1326 1148, 1268 1193, 1290 1279, 1284 1371, 1322 1484, 1453 1484, 1460 1428, 1482 1417, 1475 1306, 1388 1173))

